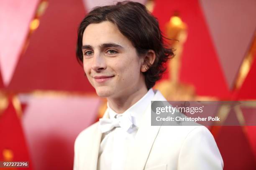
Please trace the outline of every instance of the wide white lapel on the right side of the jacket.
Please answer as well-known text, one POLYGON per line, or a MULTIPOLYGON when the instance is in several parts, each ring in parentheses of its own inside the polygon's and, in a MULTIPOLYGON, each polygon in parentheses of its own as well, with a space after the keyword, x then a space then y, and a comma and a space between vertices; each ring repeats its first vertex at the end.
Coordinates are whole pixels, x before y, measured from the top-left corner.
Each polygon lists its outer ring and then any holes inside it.
MULTIPOLYGON (((153 101, 155 100, 166 101, 159 91, 156 92, 153 98, 153 101)), ((160 127, 151 126, 151 104, 149 104, 143 113, 143 120, 136 134, 134 147, 131 149, 125 163, 125 170, 144 169, 160 127)))

